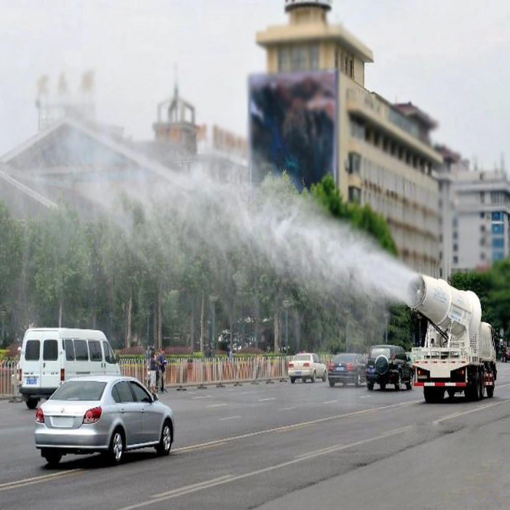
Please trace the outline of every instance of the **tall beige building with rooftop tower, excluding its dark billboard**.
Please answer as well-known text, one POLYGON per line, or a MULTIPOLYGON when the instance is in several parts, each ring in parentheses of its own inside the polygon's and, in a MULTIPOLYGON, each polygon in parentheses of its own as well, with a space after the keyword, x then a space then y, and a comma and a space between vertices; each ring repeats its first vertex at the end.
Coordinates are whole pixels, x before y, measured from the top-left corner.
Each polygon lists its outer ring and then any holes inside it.
POLYGON ((365 88, 372 51, 342 25, 329 24, 331 0, 286 0, 286 25, 257 33, 267 72, 336 69, 336 162, 342 195, 384 215, 399 257, 439 276, 440 211, 433 169, 443 157, 430 145, 436 122, 411 103, 393 105, 365 88))

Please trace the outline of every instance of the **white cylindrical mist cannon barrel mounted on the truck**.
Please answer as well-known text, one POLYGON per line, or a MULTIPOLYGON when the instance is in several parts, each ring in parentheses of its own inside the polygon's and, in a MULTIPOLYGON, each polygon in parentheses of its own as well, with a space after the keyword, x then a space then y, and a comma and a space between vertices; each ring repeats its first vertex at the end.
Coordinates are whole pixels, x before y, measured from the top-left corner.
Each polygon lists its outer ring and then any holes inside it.
POLYGON ((409 285, 407 305, 435 324, 448 338, 464 341, 478 335, 481 306, 478 296, 448 285, 443 279, 417 275, 409 285))

